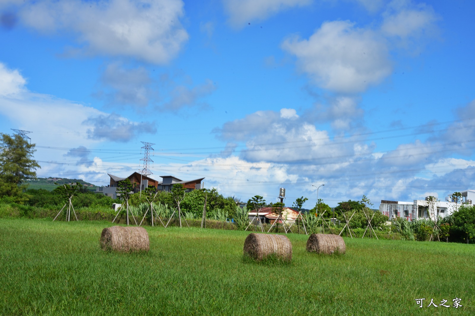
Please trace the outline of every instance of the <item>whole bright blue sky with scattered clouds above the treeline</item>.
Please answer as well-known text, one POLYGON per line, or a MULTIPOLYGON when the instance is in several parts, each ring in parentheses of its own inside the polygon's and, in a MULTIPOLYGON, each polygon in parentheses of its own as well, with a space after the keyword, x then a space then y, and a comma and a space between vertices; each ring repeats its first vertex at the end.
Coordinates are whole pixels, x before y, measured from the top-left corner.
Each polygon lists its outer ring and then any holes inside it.
POLYGON ((474 189, 473 1, 0 0, 0 132, 38 176, 286 204, 474 189))

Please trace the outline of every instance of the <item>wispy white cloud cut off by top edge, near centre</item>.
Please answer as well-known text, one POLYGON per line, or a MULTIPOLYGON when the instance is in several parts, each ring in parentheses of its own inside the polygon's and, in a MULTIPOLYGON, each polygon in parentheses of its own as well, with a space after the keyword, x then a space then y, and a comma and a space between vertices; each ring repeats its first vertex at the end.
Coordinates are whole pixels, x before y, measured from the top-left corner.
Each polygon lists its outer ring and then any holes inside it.
POLYGON ((312 0, 223 0, 229 23, 234 27, 264 20, 285 9, 303 7, 311 2, 312 0))

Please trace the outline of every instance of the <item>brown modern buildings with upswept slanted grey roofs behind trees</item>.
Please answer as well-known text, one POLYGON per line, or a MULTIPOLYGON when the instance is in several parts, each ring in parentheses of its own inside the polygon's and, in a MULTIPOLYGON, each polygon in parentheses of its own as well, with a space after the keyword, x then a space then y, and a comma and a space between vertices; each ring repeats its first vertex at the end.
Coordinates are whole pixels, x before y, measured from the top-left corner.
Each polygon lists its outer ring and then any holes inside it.
POLYGON ((163 181, 157 181, 148 176, 144 176, 138 172, 133 172, 130 176, 125 177, 125 178, 117 177, 110 173, 107 173, 107 174, 111 178, 109 185, 106 187, 97 187, 95 190, 95 193, 102 193, 105 196, 111 197, 113 199, 116 199, 118 196, 117 184, 120 181, 123 181, 127 178, 130 180, 130 182, 133 185, 133 193, 140 192, 140 190, 144 190, 145 188, 148 188, 151 186, 155 187, 156 190, 171 192, 171 188, 173 187, 173 184, 177 184, 177 183, 183 184, 183 186, 185 187, 185 191, 190 192, 192 190, 201 189, 201 181, 204 179, 204 178, 201 178, 201 179, 190 180, 190 181, 182 181, 173 176, 161 176, 163 181))

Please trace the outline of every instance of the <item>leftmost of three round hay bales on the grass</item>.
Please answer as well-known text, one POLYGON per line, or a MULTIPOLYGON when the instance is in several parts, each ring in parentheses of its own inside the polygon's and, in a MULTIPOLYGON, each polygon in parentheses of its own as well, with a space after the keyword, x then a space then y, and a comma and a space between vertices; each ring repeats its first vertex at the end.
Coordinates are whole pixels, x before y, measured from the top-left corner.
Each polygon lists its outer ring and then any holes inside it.
POLYGON ((105 251, 149 251, 148 233, 143 227, 112 226, 102 230, 101 248, 105 251))

